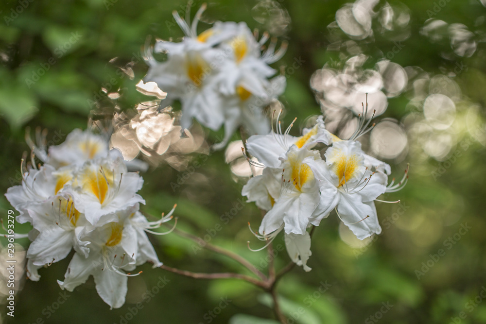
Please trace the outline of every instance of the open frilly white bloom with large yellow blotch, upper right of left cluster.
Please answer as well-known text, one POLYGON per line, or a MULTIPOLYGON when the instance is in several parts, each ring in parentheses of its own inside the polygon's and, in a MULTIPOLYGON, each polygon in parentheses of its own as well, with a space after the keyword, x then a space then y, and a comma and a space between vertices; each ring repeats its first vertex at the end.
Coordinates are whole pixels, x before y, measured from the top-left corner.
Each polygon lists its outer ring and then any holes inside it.
POLYGON ((65 188, 76 201, 77 208, 93 225, 103 215, 123 210, 137 203, 145 204, 137 194, 143 179, 128 172, 120 151, 112 150, 105 158, 87 161, 75 173, 73 184, 65 188))

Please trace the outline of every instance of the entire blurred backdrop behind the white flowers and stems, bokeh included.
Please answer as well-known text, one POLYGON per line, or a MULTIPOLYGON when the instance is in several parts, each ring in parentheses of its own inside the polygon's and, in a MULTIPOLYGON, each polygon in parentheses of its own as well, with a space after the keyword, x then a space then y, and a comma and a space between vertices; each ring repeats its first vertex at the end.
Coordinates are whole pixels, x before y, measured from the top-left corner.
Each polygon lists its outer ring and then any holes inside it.
MULTIPOLYGON (((296 267, 278 286, 288 323, 486 323, 486 2, 309 2, 210 1, 199 28, 245 21, 288 41, 273 65, 287 88, 268 110, 282 108, 285 125, 297 117, 293 135, 324 113, 327 127, 346 138, 369 93, 376 126, 360 140, 392 166, 390 178, 400 179, 407 163, 410 178, 382 198, 400 204, 377 203, 379 236, 356 239, 334 213, 321 222, 312 271, 296 267)), ((241 197, 250 170, 239 135, 210 154, 222 130, 195 123, 180 139, 179 108, 157 115, 163 94, 139 83, 147 46, 183 35, 172 11, 184 15, 189 7, 194 15, 202 3, 1 1, 0 191, 20 184, 26 133, 35 138, 37 128, 46 129, 48 145, 57 145, 89 125, 111 136, 125 159, 149 164, 141 174, 142 211, 158 216, 177 203, 180 229, 265 271, 266 252, 246 245, 260 247, 247 222, 258 227, 261 214, 241 197)), ((4 220, 9 209, 1 196, 4 220)), ((29 230, 16 224, 19 233, 29 230)), ((245 273, 175 234, 151 239, 168 266, 245 273)), ((245 282, 195 280, 149 264, 129 278, 126 304, 109 310, 92 278, 63 294, 56 280, 69 257, 40 269, 39 282, 26 280, 20 266, 28 239, 16 242, 15 318, 6 315, 7 253, 0 251, 1 323, 276 323, 269 296, 245 282)), ((277 253, 277 268, 288 262, 285 250, 277 253)))

